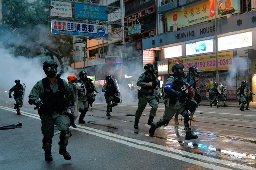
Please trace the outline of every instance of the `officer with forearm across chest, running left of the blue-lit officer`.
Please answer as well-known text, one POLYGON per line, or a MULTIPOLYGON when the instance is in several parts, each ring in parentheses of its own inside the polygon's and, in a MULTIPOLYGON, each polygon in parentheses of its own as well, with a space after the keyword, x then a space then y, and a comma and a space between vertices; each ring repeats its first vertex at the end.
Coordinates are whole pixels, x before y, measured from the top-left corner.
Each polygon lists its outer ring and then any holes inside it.
POLYGON ((151 63, 145 64, 144 69, 146 71, 140 75, 137 81, 137 86, 140 86, 141 89, 139 91, 138 109, 135 113, 134 129, 139 128, 139 119, 147 103, 149 103, 149 105, 152 107, 147 121, 148 125, 153 122, 153 119, 156 116, 156 109, 158 107, 158 102, 154 95, 154 89, 157 86, 155 75, 157 71, 151 63))

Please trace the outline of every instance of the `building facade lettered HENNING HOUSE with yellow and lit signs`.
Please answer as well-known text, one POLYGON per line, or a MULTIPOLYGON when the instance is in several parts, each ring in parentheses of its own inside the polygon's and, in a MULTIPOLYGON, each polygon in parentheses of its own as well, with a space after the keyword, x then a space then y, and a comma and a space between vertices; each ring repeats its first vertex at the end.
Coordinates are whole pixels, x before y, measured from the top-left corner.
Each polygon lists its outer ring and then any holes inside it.
POLYGON ((229 6, 229 10, 232 11, 227 11, 227 1, 218 4, 216 28, 214 15, 210 16, 209 1, 162 1, 159 4, 160 34, 143 39, 143 49, 160 52, 158 70, 162 83, 172 74, 171 67, 175 62, 183 63, 185 72, 195 65, 200 73, 197 86, 207 84, 199 94, 208 97, 206 88, 216 81, 217 33, 219 81, 228 87, 226 96, 236 99, 236 89, 242 80, 248 81, 256 91, 256 69, 249 70, 256 60, 253 55, 256 47, 256 13, 246 11, 246 6, 235 0, 229 3, 232 7, 229 6))

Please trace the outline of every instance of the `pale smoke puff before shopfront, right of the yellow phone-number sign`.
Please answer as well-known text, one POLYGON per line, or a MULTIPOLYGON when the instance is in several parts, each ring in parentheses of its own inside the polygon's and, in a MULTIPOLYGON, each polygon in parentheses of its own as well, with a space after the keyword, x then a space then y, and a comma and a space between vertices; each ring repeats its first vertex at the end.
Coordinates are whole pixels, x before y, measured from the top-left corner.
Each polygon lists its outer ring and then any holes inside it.
POLYGON ((236 86, 236 82, 232 81, 233 78, 236 78, 237 73, 240 73, 239 82, 242 82, 245 79, 245 72, 248 72, 248 58, 246 57, 234 57, 233 58, 233 69, 228 70, 228 79, 227 85, 228 86, 236 86))

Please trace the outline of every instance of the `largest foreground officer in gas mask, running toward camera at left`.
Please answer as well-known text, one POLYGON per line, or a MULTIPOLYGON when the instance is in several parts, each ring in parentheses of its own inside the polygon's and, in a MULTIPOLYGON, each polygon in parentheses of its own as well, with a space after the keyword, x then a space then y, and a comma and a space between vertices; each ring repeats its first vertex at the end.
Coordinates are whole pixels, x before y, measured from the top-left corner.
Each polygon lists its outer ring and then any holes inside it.
POLYGON ((52 161, 52 138, 54 135, 54 124, 60 131, 59 154, 66 160, 71 159, 67 152, 68 139, 71 137, 69 131, 70 120, 66 115, 68 107, 69 86, 66 81, 60 79, 57 72, 58 64, 53 60, 46 60, 43 70, 46 78, 38 81, 29 94, 29 104, 38 108, 38 114, 42 123, 43 149, 46 161, 52 161), (39 100, 40 98, 40 100, 39 100))

